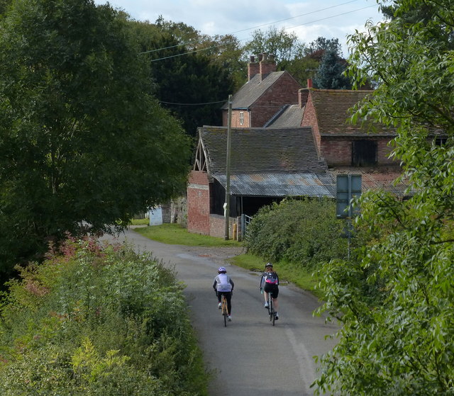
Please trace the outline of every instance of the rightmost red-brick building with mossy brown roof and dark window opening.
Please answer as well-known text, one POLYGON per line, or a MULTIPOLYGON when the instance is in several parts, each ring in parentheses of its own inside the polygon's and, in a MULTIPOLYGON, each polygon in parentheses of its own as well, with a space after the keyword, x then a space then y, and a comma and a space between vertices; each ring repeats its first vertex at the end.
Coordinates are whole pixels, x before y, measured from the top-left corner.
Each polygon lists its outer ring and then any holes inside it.
POLYGON ((404 186, 394 186, 401 174, 399 162, 389 157, 389 142, 395 130, 370 120, 350 122, 350 109, 372 91, 343 89, 300 89, 307 98, 302 126, 311 127, 320 157, 333 178, 337 174, 362 175, 362 190, 385 188, 402 195, 404 186))

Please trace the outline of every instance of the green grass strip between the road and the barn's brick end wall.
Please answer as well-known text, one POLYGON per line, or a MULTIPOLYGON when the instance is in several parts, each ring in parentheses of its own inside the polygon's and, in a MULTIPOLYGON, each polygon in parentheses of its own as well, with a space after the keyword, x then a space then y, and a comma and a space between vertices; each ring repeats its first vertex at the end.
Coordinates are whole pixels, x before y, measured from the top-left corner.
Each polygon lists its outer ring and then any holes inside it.
POLYGON ((192 232, 187 232, 186 228, 177 224, 165 223, 162 225, 141 227, 136 228, 135 232, 142 234, 144 237, 165 244, 182 244, 186 246, 204 247, 241 246, 241 243, 237 241, 226 241, 223 238, 209 237, 208 235, 201 234, 192 234, 192 232))

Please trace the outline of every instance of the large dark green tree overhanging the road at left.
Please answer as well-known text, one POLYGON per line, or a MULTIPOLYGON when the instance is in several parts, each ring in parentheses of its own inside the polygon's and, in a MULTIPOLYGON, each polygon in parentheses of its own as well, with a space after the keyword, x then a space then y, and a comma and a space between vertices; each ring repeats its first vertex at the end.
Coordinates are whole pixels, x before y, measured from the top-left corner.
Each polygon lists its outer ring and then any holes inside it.
POLYGON ((123 227, 184 191, 190 145, 151 96, 125 19, 16 0, 0 21, 0 271, 65 232, 123 227))

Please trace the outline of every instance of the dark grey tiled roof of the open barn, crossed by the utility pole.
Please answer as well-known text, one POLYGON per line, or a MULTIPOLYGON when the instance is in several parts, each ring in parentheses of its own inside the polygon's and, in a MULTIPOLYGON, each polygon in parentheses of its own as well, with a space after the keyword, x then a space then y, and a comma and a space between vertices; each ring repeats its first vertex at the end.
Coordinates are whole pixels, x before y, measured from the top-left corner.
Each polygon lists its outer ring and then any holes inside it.
MULTIPOLYGON (((226 174, 227 128, 198 128, 209 174, 226 174)), ((311 128, 232 128, 231 174, 318 173, 319 159, 311 128)))

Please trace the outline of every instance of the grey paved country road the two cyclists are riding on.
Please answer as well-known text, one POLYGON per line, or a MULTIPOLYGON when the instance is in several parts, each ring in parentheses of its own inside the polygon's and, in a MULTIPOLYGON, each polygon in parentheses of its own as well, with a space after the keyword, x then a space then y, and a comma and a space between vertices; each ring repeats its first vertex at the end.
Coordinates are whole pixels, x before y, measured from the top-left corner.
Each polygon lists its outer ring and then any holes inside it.
POLYGON ((235 282, 233 321, 224 327, 211 285, 219 263, 194 248, 160 244, 133 230, 119 237, 138 251, 152 251, 168 266, 175 267, 187 285, 185 295, 192 324, 199 336, 205 361, 214 373, 211 396, 313 395, 316 378, 313 356, 328 351, 336 332, 312 312, 319 302, 292 286, 279 286, 279 320, 272 327, 263 308, 259 277, 236 266, 226 266, 235 282))

